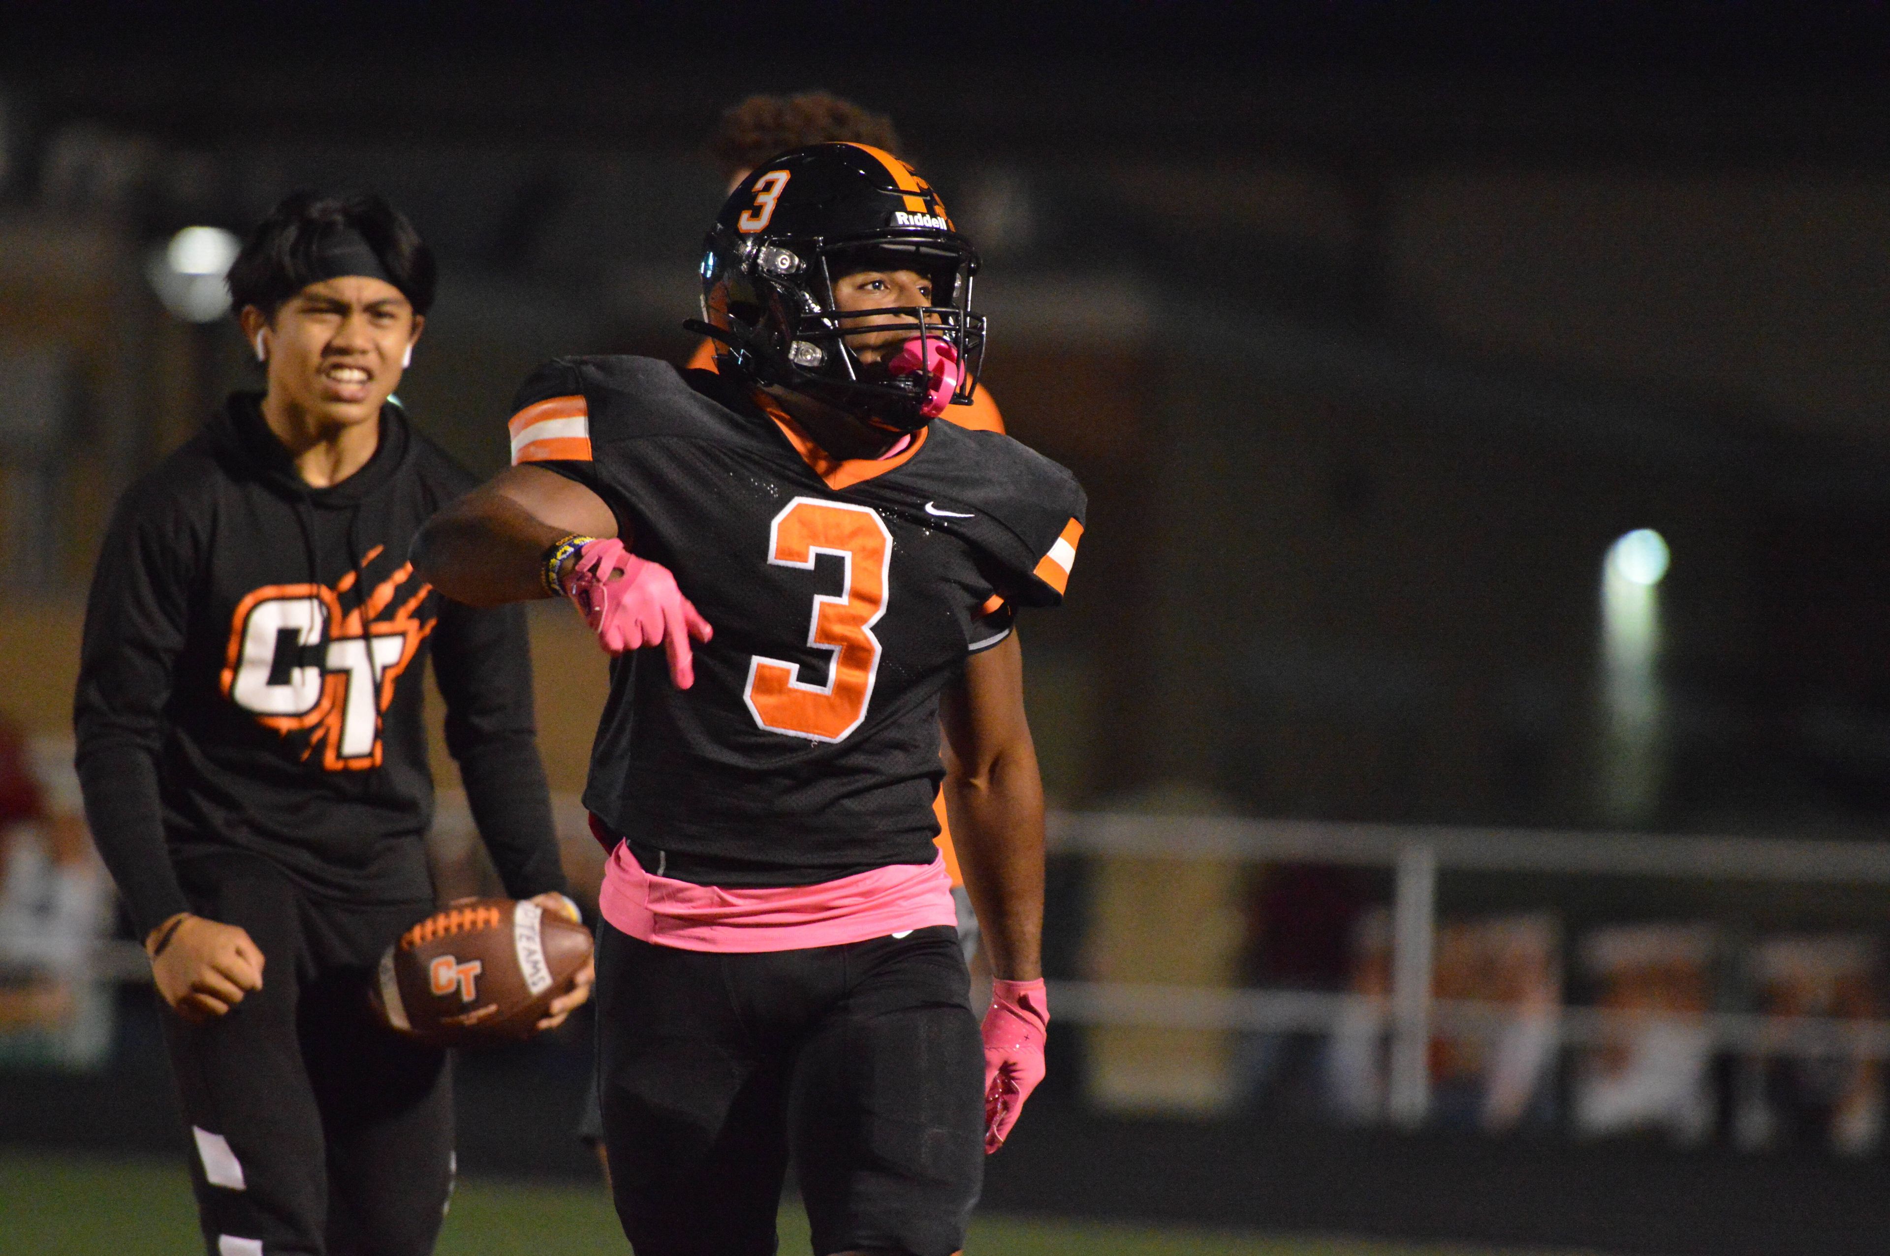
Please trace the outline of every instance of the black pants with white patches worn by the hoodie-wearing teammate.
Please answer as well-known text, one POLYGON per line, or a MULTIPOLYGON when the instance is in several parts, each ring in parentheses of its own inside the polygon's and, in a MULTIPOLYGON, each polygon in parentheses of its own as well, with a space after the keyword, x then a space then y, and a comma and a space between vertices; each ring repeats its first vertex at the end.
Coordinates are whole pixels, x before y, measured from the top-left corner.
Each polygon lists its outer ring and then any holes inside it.
POLYGON ((446 1052, 380 1026, 367 980, 433 903, 310 899, 255 856, 178 869, 191 910, 242 925, 263 990, 193 1026, 161 1010, 212 1256, 425 1256, 452 1194, 446 1052))

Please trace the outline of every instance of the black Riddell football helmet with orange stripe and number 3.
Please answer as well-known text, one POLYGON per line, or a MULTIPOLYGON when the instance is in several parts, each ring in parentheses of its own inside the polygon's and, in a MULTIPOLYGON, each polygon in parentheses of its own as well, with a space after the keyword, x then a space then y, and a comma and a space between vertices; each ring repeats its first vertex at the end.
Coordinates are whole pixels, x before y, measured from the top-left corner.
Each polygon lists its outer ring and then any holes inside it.
POLYGON ((985 355, 971 314, 977 251, 932 185, 864 144, 815 144, 764 162, 722 206, 703 257, 703 321, 720 370, 779 383, 879 427, 917 431, 970 404, 985 355), (930 306, 835 310, 833 281, 864 266, 917 270, 930 306), (869 315, 888 315, 869 329, 869 315), (907 331, 885 363, 847 338, 907 331))

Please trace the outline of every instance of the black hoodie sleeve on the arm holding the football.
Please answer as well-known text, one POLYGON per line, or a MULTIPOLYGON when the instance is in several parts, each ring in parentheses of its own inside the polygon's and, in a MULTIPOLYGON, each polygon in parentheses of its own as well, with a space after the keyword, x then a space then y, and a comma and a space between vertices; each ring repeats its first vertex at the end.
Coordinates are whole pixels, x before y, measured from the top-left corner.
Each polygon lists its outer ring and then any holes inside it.
POLYGON ((531 710, 531 640, 522 606, 440 603, 433 674, 446 699, 446 748, 493 867, 514 899, 565 891, 552 795, 531 710))

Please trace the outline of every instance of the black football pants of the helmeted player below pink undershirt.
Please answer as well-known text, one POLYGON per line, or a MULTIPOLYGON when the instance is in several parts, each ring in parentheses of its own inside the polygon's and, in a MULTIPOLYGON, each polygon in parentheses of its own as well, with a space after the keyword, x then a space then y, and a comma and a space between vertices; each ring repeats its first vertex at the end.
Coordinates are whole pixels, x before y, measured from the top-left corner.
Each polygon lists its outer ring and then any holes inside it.
POLYGON ((597 1069, 637 1256, 771 1256, 792 1150, 816 1256, 951 1256, 985 1173, 956 931, 711 954, 597 929, 597 1069))

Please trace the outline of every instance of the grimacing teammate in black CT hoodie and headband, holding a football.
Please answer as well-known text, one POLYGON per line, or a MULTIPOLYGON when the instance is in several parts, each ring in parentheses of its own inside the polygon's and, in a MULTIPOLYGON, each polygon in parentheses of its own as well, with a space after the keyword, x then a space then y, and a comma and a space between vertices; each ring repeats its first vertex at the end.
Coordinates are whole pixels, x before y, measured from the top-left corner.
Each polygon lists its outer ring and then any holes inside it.
POLYGON ((365 978, 435 907, 429 653, 507 891, 575 916, 525 623, 406 561, 474 485, 387 402, 433 300, 406 219, 291 196, 231 293, 268 391, 119 501, 85 616, 85 810, 166 1005, 206 1248, 423 1254, 452 1186, 448 1060, 376 1026, 365 978))

